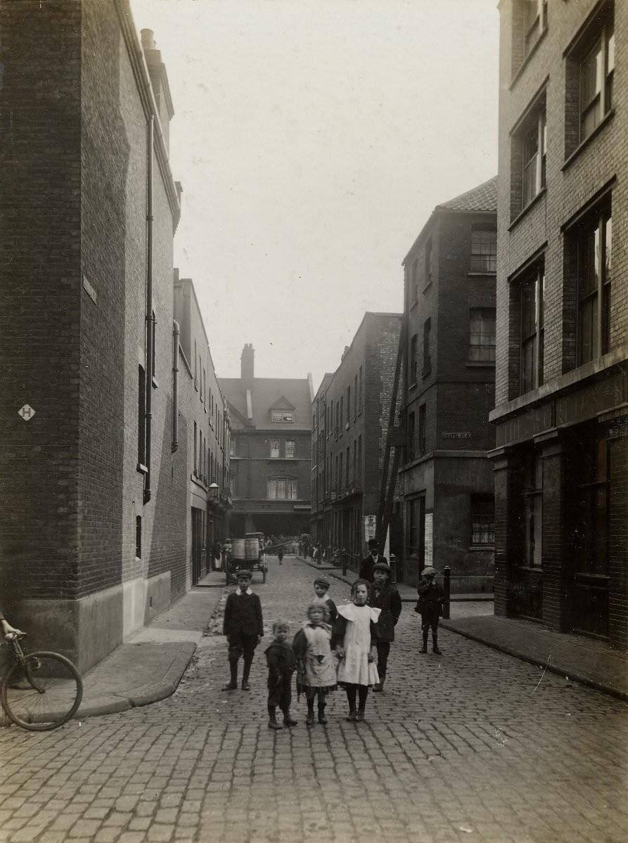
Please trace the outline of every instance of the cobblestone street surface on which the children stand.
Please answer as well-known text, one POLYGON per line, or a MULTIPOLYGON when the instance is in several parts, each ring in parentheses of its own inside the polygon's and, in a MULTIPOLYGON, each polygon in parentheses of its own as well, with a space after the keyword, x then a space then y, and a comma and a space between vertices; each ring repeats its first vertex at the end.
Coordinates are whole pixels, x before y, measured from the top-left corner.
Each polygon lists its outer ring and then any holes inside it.
MULTIPOLYGON (((272 559, 258 580, 266 630, 281 615, 296 631, 312 568, 272 559)), ((448 631, 441 657, 421 656, 411 604, 397 629, 365 723, 345 722, 339 691, 328 726, 305 728, 295 695, 298 726, 271 732, 270 636, 252 690, 225 693, 225 641, 209 635, 167 700, 3 729, 0 840, 625 840, 623 703, 448 631)))

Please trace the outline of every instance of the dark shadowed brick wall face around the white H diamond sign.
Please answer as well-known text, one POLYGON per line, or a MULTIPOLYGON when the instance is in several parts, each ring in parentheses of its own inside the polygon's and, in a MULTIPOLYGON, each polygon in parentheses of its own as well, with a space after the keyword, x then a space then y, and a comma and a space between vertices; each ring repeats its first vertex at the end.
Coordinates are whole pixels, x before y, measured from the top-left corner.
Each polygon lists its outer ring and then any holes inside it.
POLYGON ((7 604, 78 593, 81 17, 0 4, 3 447, 7 604), (35 416, 18 415, 28 402, 35 416))

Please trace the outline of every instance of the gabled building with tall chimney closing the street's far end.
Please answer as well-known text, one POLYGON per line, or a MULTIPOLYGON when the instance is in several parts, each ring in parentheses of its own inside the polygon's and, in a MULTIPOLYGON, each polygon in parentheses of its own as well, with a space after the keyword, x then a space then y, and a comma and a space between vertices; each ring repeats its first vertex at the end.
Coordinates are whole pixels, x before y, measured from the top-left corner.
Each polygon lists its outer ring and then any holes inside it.
POLYGON ((231 419, 231 533, 307 532, 310 509, 311 377, 255 378, 244 346, 239 378, 220 378, 231 419))

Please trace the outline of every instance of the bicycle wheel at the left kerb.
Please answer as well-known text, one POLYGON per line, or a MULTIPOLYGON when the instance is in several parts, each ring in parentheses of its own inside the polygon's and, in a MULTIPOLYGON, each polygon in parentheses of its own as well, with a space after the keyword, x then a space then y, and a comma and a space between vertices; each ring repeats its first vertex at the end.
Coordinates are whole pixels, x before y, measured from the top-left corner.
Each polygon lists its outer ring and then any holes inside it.
POLYGON ((62 726, 78 711, 83 680, 69 658, 58 652, 29 652, 16 662, 0 688, 10 720, 30 732, 62 726))

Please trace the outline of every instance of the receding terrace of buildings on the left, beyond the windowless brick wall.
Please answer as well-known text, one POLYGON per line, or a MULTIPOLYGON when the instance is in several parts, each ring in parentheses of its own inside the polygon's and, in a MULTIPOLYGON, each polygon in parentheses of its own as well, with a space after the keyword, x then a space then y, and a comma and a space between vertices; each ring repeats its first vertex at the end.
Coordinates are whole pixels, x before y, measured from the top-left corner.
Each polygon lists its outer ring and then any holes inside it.
POLYGON ((174 349, 179 350, 178 418, 173 436, 185 448, 188 505, 185 507, 188 586, 216 567, 212 547, 228 535, 230 425, 218 385, 201 310, 191 278, 174 271, 174 349), (213 486, 212 486, 213 484, 213 486))

